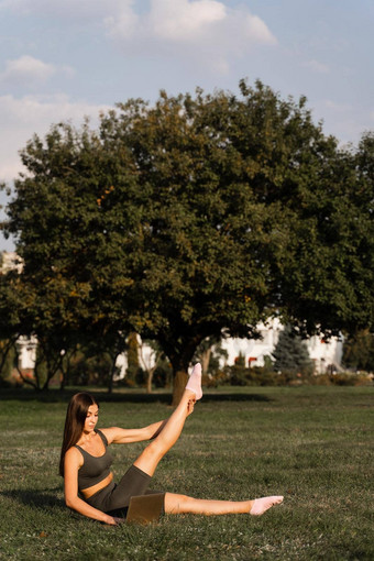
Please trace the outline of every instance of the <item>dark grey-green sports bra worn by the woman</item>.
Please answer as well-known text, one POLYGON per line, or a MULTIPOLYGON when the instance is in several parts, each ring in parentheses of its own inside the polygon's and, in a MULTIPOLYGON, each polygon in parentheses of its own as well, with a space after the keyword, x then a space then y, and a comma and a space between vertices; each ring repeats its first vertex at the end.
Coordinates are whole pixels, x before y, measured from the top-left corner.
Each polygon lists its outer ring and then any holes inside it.
POLYGON ((96 430, 101 438, 103 446, 106 447, 106 452, 102 455, 96 457, 86 452, 78 444, 75 447, 79 450, 81 455, 84 457, 84 464, 78 470, 78 490, 85 490, 88 487, 92 487, 100 481, 105 480, 110 473, 110 466, 113 463, 113 458, 108 452, 108 440, 106 436, 101 432, 101 430, 96 430))

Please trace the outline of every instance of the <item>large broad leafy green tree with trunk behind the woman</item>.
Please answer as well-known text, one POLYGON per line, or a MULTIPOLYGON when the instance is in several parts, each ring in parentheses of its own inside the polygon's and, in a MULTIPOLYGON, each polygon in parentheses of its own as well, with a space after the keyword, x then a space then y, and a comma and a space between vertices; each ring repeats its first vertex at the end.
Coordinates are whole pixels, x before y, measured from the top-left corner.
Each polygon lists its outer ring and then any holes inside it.
POLYGON ((54 127, 21 156, 7 229, 23 274, 84 286, 88 330, 158 341, 175 402, 208 337, 250 337, 272 314, 305 332, 373 321, 373 182, 305 98, 244 81, 162 92, 98 131, 54 127))

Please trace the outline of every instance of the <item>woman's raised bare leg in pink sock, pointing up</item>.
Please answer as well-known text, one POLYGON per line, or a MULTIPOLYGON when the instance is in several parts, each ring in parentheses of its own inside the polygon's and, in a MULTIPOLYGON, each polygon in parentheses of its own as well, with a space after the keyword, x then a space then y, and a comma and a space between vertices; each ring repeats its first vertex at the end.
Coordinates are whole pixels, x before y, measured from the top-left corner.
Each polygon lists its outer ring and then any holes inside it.
POLYGON ((196 398, 201 397, 201 383, 199 383, 199 377, 200 365, 197 364, 191 376, 189 377, 187 387, 182 396, 179 405, 174 410, 160 435, 151 442, 151 444, 145 448, 145 450, 143 450, 141 455, 135 460, 134 465, 136 465, 136 468, 147 473, 148 475, 152 476, 154 474, 160 460, 178 440, 182 429, 185 425, 185 420, 189 414, 189 403, 195 402, 196 398), (191 386, 194 389, 189 389, 191 386))

